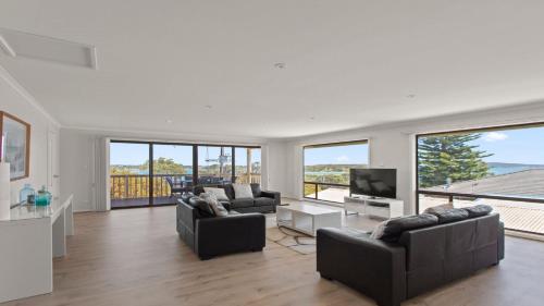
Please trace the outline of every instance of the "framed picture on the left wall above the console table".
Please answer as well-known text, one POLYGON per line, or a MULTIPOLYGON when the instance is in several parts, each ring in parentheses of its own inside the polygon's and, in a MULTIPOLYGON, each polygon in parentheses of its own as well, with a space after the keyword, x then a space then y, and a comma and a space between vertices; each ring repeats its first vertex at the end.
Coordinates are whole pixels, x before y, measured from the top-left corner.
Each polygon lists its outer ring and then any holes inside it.
POLYGON ((0 111, 0 158, 10 163, 11 181, 28 178, 30 172, 30 124, 0 111))

